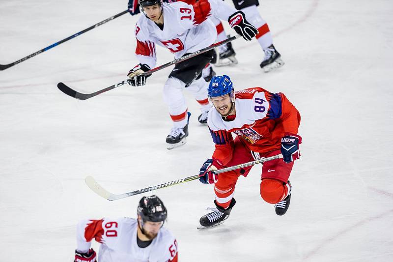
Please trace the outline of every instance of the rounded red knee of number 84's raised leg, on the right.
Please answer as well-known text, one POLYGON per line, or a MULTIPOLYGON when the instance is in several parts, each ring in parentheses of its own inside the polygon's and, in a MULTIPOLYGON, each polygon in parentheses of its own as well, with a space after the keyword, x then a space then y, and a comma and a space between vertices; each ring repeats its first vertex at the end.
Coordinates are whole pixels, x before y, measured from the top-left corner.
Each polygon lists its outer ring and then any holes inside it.
POLYGON ((286 194, 282 182, 271 178, 262 179, 260 192, 262 199, 270 204, 279 203, 286 194))

